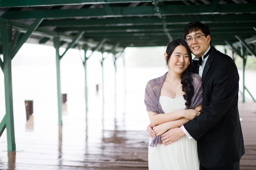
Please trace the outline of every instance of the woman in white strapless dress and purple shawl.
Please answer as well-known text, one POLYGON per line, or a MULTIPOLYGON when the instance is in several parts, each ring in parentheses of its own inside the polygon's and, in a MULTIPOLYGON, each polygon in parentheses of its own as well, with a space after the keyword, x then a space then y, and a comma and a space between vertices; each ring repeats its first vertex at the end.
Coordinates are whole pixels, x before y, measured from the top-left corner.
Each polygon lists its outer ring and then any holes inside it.
POLYGON ((145 105, 155 135, 148 148, 149 170, 199 170, 196 141, 184 135, 177 142, 161 144, 161 135, 199 116, 202 109, 201 78, 190 73, 191 51, 186 41, 170 42, 164 54, 168 72, 150 80, 145 105), (164 113, 164 114, 162 114, 164 113))

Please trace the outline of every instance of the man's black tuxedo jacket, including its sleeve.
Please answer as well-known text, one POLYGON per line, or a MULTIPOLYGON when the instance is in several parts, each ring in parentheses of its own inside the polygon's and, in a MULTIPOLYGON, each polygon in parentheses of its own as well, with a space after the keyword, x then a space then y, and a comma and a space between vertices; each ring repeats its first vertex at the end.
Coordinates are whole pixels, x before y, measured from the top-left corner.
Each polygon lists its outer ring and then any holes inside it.
POLYGON ((212 48, 202 74, 203 109, 200 116, 184 124, 197 141, 198 157, 205 168, 238 162, 245 153, 238 112, 236 64, 212 48))

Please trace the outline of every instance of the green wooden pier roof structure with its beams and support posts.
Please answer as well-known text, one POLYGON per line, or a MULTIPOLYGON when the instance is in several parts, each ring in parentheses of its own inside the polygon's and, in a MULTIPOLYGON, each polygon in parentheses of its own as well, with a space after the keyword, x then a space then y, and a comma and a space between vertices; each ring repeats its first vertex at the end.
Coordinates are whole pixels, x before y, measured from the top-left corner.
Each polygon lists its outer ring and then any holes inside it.
MULTIPOLYGON (((182 38, 184 26, 201 21, 211 29, 212 45, 224 45, 239 55, 245 68, 255 56, 256 2, 254 0, 14 0, 0 2, 0 67, 4 73, 6 114, 0 135, 7 129, 8 151, 15 151, 11 60, 25 42, 56 49, 57 100, 61 119, 60 60, 70 48, 83 49, 87 108, 86 51, 113 54, 126 47, 166 46, 182 38), (63 54, 59 48, 66 48, 63 54)), ((101 64, 103 66, 102 57, 101 64)), ((245 85, 241 93, 249 92, 245 85)), ((252 96, 253 98, 253 96, 252 96)), ((254 99, 254 98, 253 98, 254 99)), ((245 98, 243 97, 243 101, 245 98)), ((254 100, 255 101, 255 100, 254 100)))

